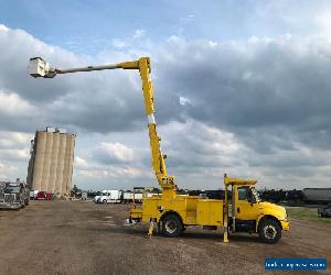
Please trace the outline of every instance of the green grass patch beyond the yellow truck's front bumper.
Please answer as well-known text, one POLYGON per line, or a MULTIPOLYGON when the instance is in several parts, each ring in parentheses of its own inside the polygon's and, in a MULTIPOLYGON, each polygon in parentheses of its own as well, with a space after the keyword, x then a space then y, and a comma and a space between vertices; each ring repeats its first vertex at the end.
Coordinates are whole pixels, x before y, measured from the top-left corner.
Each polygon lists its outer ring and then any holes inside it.
POLYGON ((286 207, 289 220, 291 218, 298 220, 318 221, 331 223, 331 218, 320 218, 318 216, 317 208, 306 208, 306 207, 286 207))

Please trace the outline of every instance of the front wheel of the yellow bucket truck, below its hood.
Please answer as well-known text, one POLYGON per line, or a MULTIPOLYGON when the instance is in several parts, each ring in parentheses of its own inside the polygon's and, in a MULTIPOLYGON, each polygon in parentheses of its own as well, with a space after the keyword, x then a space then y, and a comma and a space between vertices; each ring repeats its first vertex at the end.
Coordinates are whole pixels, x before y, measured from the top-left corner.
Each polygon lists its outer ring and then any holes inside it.
POLYGON ((265 219, 258 226, 258 235, 264 243, 274 244, 281 238, 281 228, 277 221, 265 219))

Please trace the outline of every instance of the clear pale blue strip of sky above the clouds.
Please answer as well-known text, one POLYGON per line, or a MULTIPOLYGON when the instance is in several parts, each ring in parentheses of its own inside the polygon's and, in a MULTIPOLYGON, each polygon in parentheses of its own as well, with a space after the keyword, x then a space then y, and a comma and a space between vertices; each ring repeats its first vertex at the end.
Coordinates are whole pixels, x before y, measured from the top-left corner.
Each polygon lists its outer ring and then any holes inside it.
POLYGON ((143 30, 156 43, 186 40, 244 40, 307 34, 325 1, 6 1, 0 18, 46 43, 96 54, 143 30))

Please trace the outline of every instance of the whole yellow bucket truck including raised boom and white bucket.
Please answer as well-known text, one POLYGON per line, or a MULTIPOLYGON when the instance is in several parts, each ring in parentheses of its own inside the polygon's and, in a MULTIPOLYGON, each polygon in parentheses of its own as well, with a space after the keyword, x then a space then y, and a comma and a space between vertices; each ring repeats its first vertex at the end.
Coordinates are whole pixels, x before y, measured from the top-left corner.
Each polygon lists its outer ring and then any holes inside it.
POLYGON ((30 59, 29 66, 30 75, 35 78, 53 78, 62 74, 104 69, 134 69, 140 73, 145 112, 148 121, 151 164, 162 189, 161 195, 145 197, 141 206, 135 205, 129 213, 130 221, 149 222, 150 235, 156 224, 159 231, 167 237, 178 237, 189 226, 202 226, 209 229, 223 228, 224 242, 228 241, 229 231, 258 233, 261 240, 267 243, 276 243, 280 239, 281 230, 289 229, 286 210, 274 204, 261 202, 255 189, 256 180, 224 176, 224 200, 177 194, 178 186, 174 183, 174 177, 167 173, 167 155, 161 151, 161 139, 157 132, 149 57, 119 64, 67 69, 53 68, 41 57, 34 57, 30 59), (233 194, 231 212, 227 199, 228 188, 233 194))

